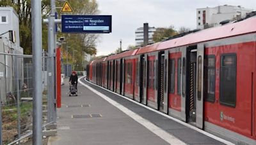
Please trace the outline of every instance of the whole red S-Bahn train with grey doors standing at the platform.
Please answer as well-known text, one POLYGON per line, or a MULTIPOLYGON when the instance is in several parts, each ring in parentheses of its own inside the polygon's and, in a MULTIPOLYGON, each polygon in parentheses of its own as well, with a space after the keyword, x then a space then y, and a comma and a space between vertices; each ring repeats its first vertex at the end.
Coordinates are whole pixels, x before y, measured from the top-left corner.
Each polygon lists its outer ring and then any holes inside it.
POLYGON ((94 60, 87 79, 236 144, 256 144, 256 17, 94 60))

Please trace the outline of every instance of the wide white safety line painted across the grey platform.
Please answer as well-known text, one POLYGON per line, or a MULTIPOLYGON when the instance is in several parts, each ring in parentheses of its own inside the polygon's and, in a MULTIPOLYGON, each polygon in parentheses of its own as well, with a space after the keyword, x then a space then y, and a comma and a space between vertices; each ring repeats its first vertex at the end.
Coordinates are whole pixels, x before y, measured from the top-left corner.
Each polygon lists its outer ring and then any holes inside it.
POLYGON ((163 139, 164 141, 168 142, 169 144, 180 144, 180 145, 185 145, 185 142, 180 141, 179 139, 177 139, 176 137, 174 137, 173 135, 170 135, 168 132, 164 131, 163 129, 157 127, 156 125, 154 125, 153 123, 151 123, 148 120, 145 120, 144 118, 142 118, 140 115, 132 112, 130 109, 128 109, 127 107, 122 106, 121 104, 119 104, 118 102, 116 102, 115 100, 110 99, 108 96, 98 92, 97 90, 93 89, 92 87, 84 84, 81 80, 81 78, 79 78, 79 83, 81 83, 82 85, 84 85, 86 88, 90 89, 92 92, 96 93, 97 95, 99 95, 100 97, 102 97, 102 99, 107 100, 110 104, 112 104, 113 106, 117 107, 118 109, 120 109, 120 111, 124 112, 125 114, 127 114, 129 117, 131 117, 133 120, 137 121, 138 123, 140 123, 141 125, 143 125, 145 128, 147 128, 148 130, 150 130, 151 132, 153 132, 154 134, 156 134, 158 137, 160 137, 161 139, 163 139))

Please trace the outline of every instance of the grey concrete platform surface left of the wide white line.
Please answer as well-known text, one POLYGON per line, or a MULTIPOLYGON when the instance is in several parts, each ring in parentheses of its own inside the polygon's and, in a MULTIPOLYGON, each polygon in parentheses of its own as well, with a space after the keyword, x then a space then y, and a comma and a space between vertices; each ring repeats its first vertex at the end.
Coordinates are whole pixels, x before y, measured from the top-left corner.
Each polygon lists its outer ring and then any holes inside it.
POLYGON ((58 135, 48 144, 168 144, 88 88, 77 87, 78 96, 68 97, 68 84, 62 86, 58 135))

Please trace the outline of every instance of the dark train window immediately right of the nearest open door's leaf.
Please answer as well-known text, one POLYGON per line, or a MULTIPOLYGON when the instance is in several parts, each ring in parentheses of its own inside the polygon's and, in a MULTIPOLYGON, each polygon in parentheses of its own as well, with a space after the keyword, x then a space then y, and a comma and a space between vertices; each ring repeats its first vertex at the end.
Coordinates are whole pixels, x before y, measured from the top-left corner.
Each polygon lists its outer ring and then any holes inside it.
POLYGON ((207 55, 204 61, 204 96, 208 102, 215 101, 215 56, 207 55))

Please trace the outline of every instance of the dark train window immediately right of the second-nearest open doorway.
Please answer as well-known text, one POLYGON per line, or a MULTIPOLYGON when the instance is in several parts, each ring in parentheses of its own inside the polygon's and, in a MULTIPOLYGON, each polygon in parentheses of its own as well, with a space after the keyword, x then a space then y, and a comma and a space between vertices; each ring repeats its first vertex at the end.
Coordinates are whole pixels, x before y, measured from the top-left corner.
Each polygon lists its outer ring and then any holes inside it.
POLYGON ((175 59, 169 59, 169 93, 175 91, 175 59))

